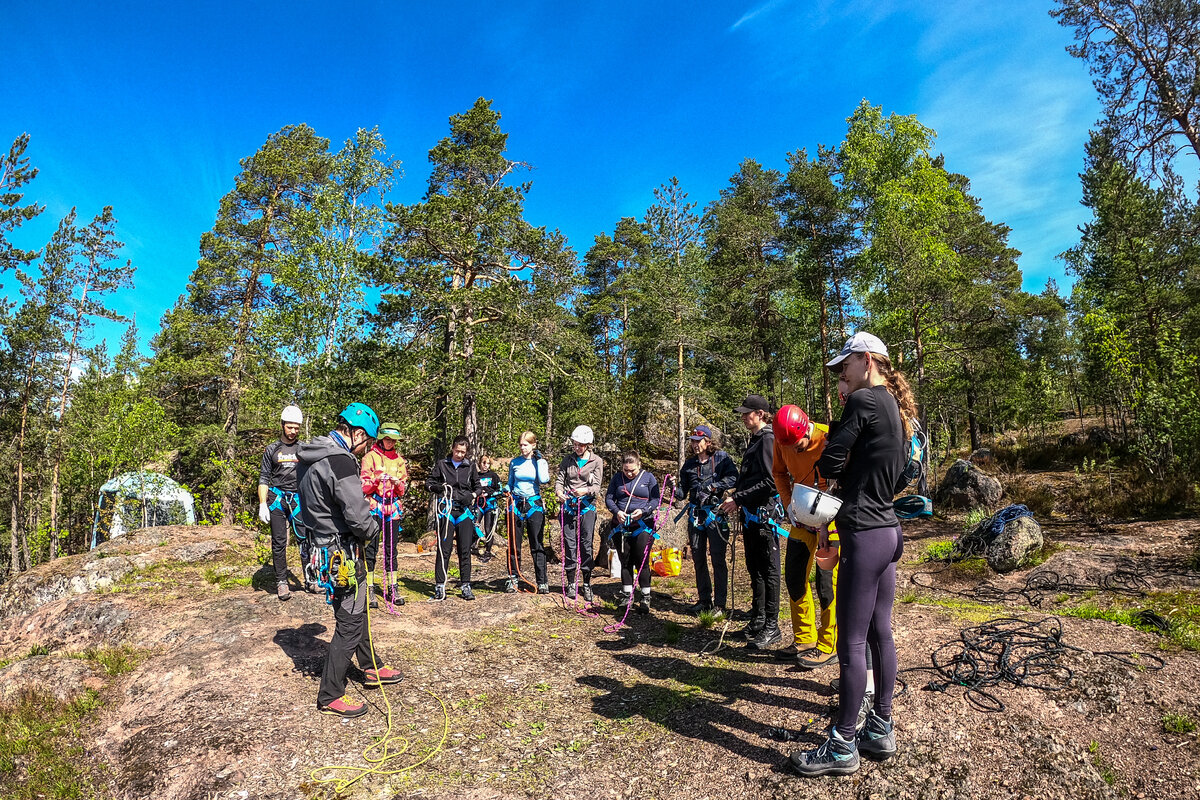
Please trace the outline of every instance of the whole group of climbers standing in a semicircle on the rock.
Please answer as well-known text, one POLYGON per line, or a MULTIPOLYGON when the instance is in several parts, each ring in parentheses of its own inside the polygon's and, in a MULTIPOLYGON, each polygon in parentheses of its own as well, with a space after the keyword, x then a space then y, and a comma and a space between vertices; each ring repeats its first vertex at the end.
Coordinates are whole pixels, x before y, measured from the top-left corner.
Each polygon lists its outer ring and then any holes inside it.
MULTIPOLYGON (((745 646, 773 650, 808 669, 836 661, 841 670, 838 712, 827 740, 790 757, 804 776, 848 774, 858 769, 860 753, 887 758, 895 752, 890 616, 904 545, 893 498, 901 488, 916 417, 911 389, 877 337, 856 333, 827 366, 838 373, 840 421, 818 425, 796 405, 773 411, 766 398, 750 395, 734 409, 750 433, 740 467, 716 446, 712 428, 698 425, 689 437, 692 455, 682 464, 678 488, 670 489, 670 497, 662 497, 664 487, 642 468, 635 451, 622 457, 604 494, 612 515, 610 542, 620 561, 622 601, 643 614, 650 610, 649 554, 664 503, 685 505, 698 593, 691 613, 718 618, 727 613, 731 521, 739 523, 751 583, 751 607, 739 633, 745 646), (797 487, 835 494, 841 500, 835 519, 828 525, 806 524, 809 517, 790 503, 797 487), (792 638, 776 648, 784 637, 781 539, 787 541, 784 566, 792 638), (816 593, 809 582, 814 566, 816 593)), ((283 435, 264 453, 259 516, 271 525, 280 600, 289 596, 288 530, 304 528, 305 583, 326 591, 336 620, 317 705, 326 714, 359 716, 366 705, 344 694, 352 655, 366 673, 367 686, 401 679, 378 662, 362 631, 366 607, 373 601, 367 576, 380 546, 384 595, 402 602, 395 542, 408 470, 395 449, 398 429, 380 426, 366 405, 352 403, 328 437, 311 443, 298 441, 301 421, 300 409, 284 409, 283 435), (390 539, 380 537, 389 530, 390 539)), ((553 481, 566 591, 587 602, 593 600, 593 545, 604 477, 593 441, 592 428, 577 427, 553 481)), ((430 471, 426 487, 436 504, 438 533, 434 600, 446 597, 448 564, 456 546, 460 594, 474 600, 472 553, 484 534, 481 555, 490 555, 500 499, 508 533, 505 591, 517 591, 522 581, 539 594, 550 591, 542 500, 544 487, 551 483, 550 464, 532 432, 524 432, 518 444, 520 455, 510 462, 503 485, 490 463, 481 459, 476 468, 468 458, 466 437, 456 438, 450 455, 430 471), (524 539, 532 581, 522 572, 524 539)))

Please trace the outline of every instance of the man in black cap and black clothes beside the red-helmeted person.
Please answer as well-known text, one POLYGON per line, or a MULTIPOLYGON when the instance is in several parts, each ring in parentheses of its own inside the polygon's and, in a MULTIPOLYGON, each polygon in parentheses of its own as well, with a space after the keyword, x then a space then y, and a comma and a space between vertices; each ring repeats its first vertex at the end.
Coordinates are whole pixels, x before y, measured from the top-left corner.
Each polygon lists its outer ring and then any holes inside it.
POLYGON ((746 646, 766 650, 784 638, 784 632, 779 630, 779 539, 763 516, 763 507, 775 497, 775 479, 770 473, 775 434, 770 428, 770 403, 766 397, 750 395, 733 411, 742 415, 742 425, 750 432, 750 443, 742 458, 733 497, 720 507, 726 513, 738 509, 742 512, 746 572, 754 590, 750 624, 743 633, 749 640, 746 646))

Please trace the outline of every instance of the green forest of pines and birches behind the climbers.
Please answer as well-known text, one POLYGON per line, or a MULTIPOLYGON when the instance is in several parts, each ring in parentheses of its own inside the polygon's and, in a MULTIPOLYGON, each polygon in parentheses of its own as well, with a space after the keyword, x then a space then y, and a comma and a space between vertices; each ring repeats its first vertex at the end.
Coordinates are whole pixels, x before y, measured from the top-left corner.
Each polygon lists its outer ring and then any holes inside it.
MULTIPOLYGON (((530 164, 508 155, 502 101, 480 98, 431 143, 408 205, 386 201, 403 173, 384 132, 269 133, 149 351, 131 323, 109 347, 92 325, 127 321, 112 299, 138 282, 120 211, 72 210, 42 247, 12 243, 44 212, 37 132, 23 133, 0 161, 0 278, 14 288, 0 308, 0 575, 86 549, 101 485, 133 469, 185 485, 202 522, 256 524, 258 462, 288 403, 304 437, 368 403, 401 426, 418 474, 460 433, 503 457, 532 429, 554 453, 580 423, 602 455, 636 447, 671 470, 700 422, 737 453, 732 409, 750 392, 835 419, 822 365, 858 330, 913 385, 935 467, 1001 435, 1052 446, 1060 421, 1096 416, 1139 487, 1128 512, 1186 509, 1200 481, 1200 211, 1183 178, 1200 160, 1195 6, 1052 12, 1104 108, 1080 143, 1091 219, 1061 255, 1069 291, 1022 289, 1008 225, 936 132, 866 100, 826 112, 848 113, 841 142, 797 148, 786 169, 731 163, 715 198, 665 175, 640 217, 578 252, 527 219, 530 164)), ((410 513, 408 531, 422 523, 410 513)))

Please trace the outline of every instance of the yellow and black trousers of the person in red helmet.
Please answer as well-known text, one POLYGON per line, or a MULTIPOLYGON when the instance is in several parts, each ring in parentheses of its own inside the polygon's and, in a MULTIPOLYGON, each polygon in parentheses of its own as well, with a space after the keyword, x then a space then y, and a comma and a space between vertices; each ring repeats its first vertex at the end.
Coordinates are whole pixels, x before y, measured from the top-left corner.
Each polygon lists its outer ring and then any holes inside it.
MULTIPOLYGON (((790 610, 792 613, 792 637, 800 650, 816 645, 822 652, 838 649, 838 566, 817 570, 817 590, 814 602, 809 576, 816 561, 817 534, 804 528, 788 525, 787 554, 784 560, 784 579, 787 584, 790 610), (820 619, 818 619, 820 618, 820 619)), ((838 534, 830 534, 838 541, 838 534)))

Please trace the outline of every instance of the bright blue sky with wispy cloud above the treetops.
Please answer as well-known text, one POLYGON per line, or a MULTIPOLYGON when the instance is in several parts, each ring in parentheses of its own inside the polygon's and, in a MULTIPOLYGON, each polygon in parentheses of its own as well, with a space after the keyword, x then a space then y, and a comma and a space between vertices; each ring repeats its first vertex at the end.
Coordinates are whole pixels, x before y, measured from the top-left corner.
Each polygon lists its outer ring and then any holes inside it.
MULTIPOLYGON (((494 101, 529 162, 527 216, 578 253, 641 216, 677 175, 716 197, 743 158, 838 144, 862 98, 938 132, 947 167, 1013 228, 1027 289, 1066 285, 1086 65, 1049 0, 917 2, 8 4, 4 146, 32 137, 40 246, 72 205, 113 205, 137 290, 113 305, 157 330, 196 265, 238 161, 284 125, 340 145, 379 126, 403 162, 390 199, 420 198, 448 118, 494 101)), ((12 289, 10 278, 6 289, 12 289)), ((115 343, 119 331, 97 329, 115 343)))

